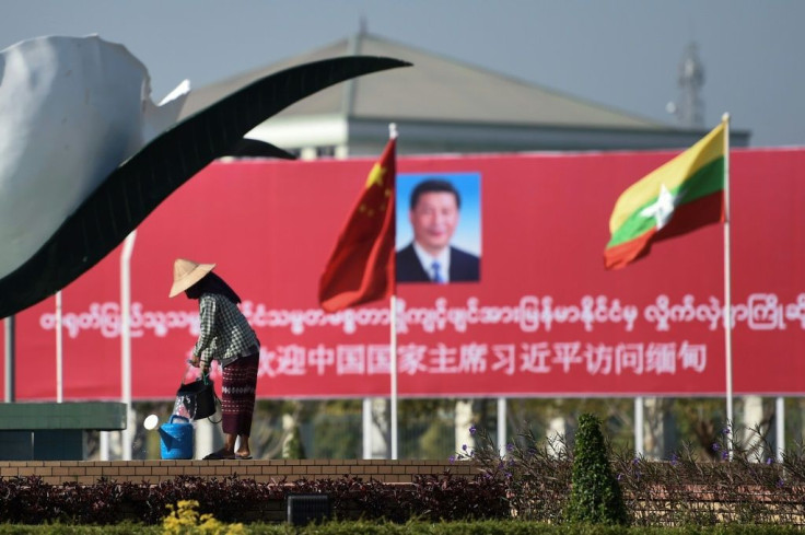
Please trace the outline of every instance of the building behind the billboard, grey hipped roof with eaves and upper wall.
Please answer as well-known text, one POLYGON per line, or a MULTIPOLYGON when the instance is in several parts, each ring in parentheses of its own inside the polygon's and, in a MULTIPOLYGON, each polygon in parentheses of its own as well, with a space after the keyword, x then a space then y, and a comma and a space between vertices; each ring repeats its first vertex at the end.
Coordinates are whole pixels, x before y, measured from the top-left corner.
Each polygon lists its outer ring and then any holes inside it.
MULTIPOLYGON (((405 139, 398 154, 688 148, 709 131, 640 117, 364 31, 195 90, 182 116, 271 73, 351 55, 385 56, 412 67, 323 90, 247 136, 303 158, 343 158, 377 154, 390 123, 405 139)), ((749 132, 732 130, 730 139, 733 147, 747 147, 749 132)))

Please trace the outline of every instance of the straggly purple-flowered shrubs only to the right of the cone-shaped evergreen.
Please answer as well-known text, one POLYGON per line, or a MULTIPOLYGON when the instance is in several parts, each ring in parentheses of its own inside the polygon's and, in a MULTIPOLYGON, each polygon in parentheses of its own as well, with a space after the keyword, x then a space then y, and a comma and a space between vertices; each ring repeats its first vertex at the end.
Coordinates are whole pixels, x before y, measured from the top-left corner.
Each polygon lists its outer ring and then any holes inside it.
POLYGON ((757 443, 773 451, 760 431, 742 442, 731 426, 710 445, 715 456, 684 444, 665 462, 616 453, 612 464, 629 497, 638 525, 789 524, 805 522, 805 450, 786 451, 781 461, 761 457, 757 443), (750 444, 747 446, 746 444, 750 444), (662 508, 641 504, 662 503, 662 508))

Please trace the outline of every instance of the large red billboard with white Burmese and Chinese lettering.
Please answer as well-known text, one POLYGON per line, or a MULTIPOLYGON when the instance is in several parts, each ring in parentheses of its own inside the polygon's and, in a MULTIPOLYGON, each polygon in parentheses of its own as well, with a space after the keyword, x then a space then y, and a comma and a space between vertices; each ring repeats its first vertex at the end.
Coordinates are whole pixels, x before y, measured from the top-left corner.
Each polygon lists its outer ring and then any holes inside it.
MULTIPOLYGON (((675 154, 400 158, 400 187, 475 188, 462 218, 480 277, 397 286, 399 395, 723 395, 724 225, 604 269, 618 195, 675 154)), ((388 395, 389 302, 328 314, 316 301, 373 163, 217 162, 162 203, 131 257, 135 398, 172 398, 196 340, 197 303, 167 298, 176 257, 217 263, 243 298, 259 397, 388 395)), ((730 170, 734 391, 802 395, 805 150, 733 151, 730 170)), ((120 252, 62 292, 66 399, 120 397, 120 252)), ((55 329, 54 299, 16 315, 18 399, 56 397, 55 329)))

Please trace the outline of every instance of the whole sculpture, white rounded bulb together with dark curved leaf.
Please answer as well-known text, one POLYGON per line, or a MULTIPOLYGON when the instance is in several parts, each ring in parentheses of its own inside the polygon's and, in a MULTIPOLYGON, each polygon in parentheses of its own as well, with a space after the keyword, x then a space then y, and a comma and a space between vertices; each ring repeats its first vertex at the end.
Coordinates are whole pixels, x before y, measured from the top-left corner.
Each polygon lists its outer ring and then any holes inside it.
POLYGON ((232 154, 293 158, 244 136, 294 102, 405 61, 348 56, 269 74, 177 121, 148 70, 97 36, 0 51, 0 318, 51 295, 114 249, 182 184, 232 154))

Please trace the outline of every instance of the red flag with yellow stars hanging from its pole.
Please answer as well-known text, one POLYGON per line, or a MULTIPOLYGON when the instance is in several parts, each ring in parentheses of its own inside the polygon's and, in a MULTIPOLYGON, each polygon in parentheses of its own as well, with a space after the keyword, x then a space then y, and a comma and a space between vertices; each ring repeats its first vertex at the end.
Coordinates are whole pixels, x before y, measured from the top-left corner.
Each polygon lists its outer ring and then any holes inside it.
POLYGON ((394 182, 396 138, 374 164, 318 282, 327 312, 394 293, 394 182))

